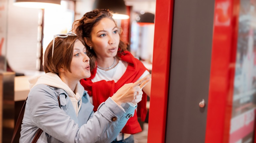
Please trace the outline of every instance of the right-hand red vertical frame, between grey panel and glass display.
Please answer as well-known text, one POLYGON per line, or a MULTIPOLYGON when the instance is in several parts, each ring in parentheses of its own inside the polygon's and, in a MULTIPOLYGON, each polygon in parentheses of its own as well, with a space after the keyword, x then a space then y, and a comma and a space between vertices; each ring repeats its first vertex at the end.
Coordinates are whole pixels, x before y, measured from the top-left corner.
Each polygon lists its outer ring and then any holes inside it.
POLYGON ((206 143, 229 139, 238 20, 239 0, 215 0, 206 143))

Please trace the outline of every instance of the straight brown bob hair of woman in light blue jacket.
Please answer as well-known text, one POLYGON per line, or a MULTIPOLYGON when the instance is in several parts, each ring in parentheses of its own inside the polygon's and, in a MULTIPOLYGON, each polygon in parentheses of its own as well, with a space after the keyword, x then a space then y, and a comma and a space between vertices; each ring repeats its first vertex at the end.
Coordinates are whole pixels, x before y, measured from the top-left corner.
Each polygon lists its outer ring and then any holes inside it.
POLYGON ((60 68, 64 68, 65 70, 71 72, 70 65, 73 58, 73 48, 75 40, 77 39, 85 45, 84 40, 78 36, 68 36, 66 38, 56 37, 54 41, 54 50, 53 40, 49 43, 44 54, 45 73, 53 72, 58 74, 60 68))

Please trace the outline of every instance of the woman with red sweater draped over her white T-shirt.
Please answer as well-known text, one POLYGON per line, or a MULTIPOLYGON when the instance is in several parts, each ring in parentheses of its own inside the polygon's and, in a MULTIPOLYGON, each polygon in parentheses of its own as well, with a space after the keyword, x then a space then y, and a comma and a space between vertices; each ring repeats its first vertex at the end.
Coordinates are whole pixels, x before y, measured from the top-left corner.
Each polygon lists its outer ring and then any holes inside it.
MULTIPOLYGON (((72 31, 85 41, 91 59, 91 77, 82 79, 81 85, 88 91, 94 111, 124 84, 150 76, 144 65, 127 51, 127 45, 120 39, 120 29, 109 10, 95 9, 85 13, 73 23, 72 31), (99 90, 99 87, 104 88, 99 90)), ((150 89, 151 82, 143 88, 145 93, 138 104, 137 113, 128 120, 113 142, 133 143, 131 134, 142 131, 137 117, 141 117, 142 121, 146 117, 146 94, 150 96, 150 89)))

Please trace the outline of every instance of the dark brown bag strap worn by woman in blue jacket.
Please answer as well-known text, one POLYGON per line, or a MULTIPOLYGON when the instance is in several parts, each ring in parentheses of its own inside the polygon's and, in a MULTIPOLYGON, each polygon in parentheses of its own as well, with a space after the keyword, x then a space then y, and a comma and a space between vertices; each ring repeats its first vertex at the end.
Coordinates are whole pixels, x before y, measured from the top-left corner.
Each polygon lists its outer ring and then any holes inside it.
MULTIPOLYGON (((57 99, 58 99, 58 103, 59 103, 59 107, 60 107, 59 96, 57 96, 57 99)), ((13 143, 14 138, 15 138, 15 136, 16 136, 16 134, 17 134, 17 131, 18 131, 19 127, 21 127, 22 119, 23 119, 23 117, 24 117, 24 112, 25 112, 25 107, 26 107, 27 100, 28 100, 28 97, 27 97, 27 99, 25 100, 25 102, 24 102, 24 104, 23 104, 23 106, 22 106, 22 108, 21 108, 19 117, 18 117, 17 122, 16 122, 16 125, 15 125, 15 127, 14 127, 14 131, 13 131, 13 134, 12 134, 11 143, 13 143)), ((39 128, 39 129, 37 130, 36 134, 35 134, 34 139, 32 140, 32 143, 36 143, 42 133, 43 133, 43 130, 39 128)))

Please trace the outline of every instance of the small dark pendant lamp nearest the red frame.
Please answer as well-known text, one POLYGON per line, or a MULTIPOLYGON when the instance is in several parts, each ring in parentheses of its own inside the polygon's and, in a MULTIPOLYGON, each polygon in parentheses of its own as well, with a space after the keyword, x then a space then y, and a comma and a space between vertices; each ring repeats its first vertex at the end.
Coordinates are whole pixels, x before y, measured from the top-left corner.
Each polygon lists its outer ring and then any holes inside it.
POLYGON ((139 14, 139 17, 136 17, 136 20, 139 25, 154 24, 155 14, 145 12, 144 14, 139 14))

